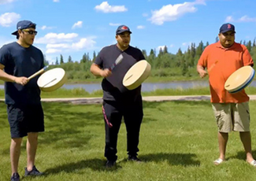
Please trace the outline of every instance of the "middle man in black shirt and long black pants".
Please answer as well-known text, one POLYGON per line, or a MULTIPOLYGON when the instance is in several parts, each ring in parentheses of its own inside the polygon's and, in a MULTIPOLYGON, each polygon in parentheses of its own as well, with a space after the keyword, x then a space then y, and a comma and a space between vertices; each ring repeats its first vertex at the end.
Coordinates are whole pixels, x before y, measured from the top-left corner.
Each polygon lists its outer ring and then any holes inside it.
POLYGON ((127 131, 128 160, 139 161, 139 130, 143 120, 141 86, 128 90, 122 81, 128 69, 145 57, 139 49, 129 46, 131 34, 127 26, 119 26, 116 31, 117 44, 104 47, 91 65, 91 72, 104 78, 102 113, 106 131, 106 167, 112 167, 117 161, 117 135, 123 116, 127 131), (109 70, 120 54, 123 56, 121 63, 109 70))

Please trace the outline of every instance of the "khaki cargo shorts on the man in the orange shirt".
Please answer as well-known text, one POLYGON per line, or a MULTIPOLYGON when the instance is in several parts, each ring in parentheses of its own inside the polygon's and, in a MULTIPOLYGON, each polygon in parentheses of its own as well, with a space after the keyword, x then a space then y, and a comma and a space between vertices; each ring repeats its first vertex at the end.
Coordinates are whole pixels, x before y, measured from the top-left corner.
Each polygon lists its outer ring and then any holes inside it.
POLYGON ((219 132, 250 131, 249 103, 212 103, 219 132))

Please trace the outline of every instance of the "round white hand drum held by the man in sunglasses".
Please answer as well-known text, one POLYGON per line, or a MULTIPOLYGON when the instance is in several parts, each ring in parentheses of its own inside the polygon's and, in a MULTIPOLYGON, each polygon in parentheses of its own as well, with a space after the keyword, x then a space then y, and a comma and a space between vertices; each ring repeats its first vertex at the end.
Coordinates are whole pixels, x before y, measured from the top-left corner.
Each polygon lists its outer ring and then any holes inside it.
POLYGON ((37 84, 40 90, 51 92, 62 87, 67 79, 68 77, 63 68, 53 68, 39 76, 37 84))

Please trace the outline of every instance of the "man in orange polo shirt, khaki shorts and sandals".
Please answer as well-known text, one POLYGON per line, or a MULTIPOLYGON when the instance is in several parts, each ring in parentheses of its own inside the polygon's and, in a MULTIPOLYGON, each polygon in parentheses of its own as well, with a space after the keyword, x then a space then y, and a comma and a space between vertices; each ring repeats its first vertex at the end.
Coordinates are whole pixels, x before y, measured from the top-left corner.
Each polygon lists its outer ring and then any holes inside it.
POLYGON ((225 160, 228 133, 239 131, 247 162, 256 166, 251 154, 249 97, 245 90, 230 94, 224 89, 228 76, 245 65, 254 65, 247 47, 235 42, 235 34, 233 24, 223 24, 218 34, 220 41, 206 47, 198 60, 197 71, 201 78, 209 74, 210 101, 217 120, 220 150, 220 157, 214 164, 225 160))

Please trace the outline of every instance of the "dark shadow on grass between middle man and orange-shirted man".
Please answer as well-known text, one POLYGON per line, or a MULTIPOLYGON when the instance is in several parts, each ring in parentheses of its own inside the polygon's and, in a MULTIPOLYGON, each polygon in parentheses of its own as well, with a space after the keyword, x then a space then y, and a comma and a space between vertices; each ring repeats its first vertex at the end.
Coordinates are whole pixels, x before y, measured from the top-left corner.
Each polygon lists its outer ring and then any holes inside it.
POLYGON ((150 153, 140 155, 139 159, 144 162, 161 162, 168 161, 171 165, 187 166, 200 166, 200 161, 196 160, 194 153, 150 153))

